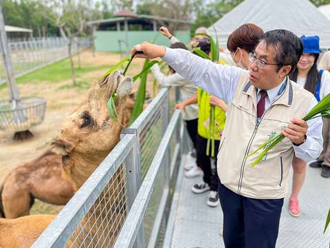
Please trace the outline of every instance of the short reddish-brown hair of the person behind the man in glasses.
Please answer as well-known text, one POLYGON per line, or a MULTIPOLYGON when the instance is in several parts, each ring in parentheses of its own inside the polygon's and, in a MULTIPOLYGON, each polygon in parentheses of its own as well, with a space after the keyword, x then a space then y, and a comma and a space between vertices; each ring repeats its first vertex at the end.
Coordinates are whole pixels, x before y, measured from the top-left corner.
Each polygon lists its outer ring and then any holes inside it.
POLYGON ((234 30, 227 40, 227 48, 230 52, 235 52, 237 48, 242 48, 246 52, 253 52, 259 39, 263 34, 263 29, 253 23, 246 23, 234 30))

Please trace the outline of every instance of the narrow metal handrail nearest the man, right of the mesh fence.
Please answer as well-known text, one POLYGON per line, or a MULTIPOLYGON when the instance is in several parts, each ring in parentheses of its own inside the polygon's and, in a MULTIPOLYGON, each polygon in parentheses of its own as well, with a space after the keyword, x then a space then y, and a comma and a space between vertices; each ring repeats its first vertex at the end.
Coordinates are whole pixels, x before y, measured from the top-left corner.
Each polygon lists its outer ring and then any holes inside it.
POLYGON ((159 168, 162 165, 166 151, 170 145, 170 138, 175 134, 176 127, 179 123, 180 112, 175 110, 170 123, 166 128, 165 134, 162 138, 162 141, 157 149, 153 162, 148 169, 148 173, 144 178, 144 181, 140 187, 139 192, 134 200, 134 203, 129 211, 124 226, 120 231, 120 234, 115 242, 114 247, 123 248, 123 247, 133 247, 135 238, 137 237, 137 231, 139 231, 144 214, 146 213, 146 208, 151 199, 151 194, 153 193, 153 188, 155 187, 155 181, 159 168))

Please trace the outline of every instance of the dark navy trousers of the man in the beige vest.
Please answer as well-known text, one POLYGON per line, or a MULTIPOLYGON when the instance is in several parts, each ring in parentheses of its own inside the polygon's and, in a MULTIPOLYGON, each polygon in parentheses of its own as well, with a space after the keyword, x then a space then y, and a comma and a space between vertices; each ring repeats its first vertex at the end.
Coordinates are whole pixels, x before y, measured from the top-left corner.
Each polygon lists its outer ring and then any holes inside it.
POLYGON ((241 196, 219 183, 226 248, 274 248, 283 206, 281 199, 241 196))

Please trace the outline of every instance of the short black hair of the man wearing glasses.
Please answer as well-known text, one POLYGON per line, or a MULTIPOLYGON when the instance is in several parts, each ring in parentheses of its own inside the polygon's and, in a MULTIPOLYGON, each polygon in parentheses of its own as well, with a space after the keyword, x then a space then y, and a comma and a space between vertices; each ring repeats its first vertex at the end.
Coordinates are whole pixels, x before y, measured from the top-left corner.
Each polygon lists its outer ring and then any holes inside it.
POLYGON ((291 65, 290 72, 296 69, 303 54, 303 41, 296 34, 288 30, 271 30, 261 36, 261 41, 266 43, 266 47, 272 45, 276 50, 277 72, 283 65, 291 65))

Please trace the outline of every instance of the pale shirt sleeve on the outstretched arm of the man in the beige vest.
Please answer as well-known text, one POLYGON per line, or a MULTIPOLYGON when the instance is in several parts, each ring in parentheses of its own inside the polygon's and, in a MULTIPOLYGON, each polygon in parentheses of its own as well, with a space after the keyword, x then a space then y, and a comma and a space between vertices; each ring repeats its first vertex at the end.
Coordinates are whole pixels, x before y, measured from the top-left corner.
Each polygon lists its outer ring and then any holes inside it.
POLYGON ((209 94, 217 96, 228 105, 232 102, 241 68, 213 63, 183 49, 166 48, 162 59, 178 74, 209 94))

